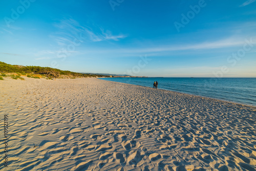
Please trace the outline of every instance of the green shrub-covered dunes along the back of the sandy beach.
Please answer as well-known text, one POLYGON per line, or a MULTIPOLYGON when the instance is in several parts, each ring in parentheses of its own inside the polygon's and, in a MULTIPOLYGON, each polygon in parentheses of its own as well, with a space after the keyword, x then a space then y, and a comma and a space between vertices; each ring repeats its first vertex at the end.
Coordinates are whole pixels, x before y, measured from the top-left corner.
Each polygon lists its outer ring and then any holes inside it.
MULTIPOLYGON (((16 73, 19 76, 30 74, 30 76, 27 75, 27 77, 31 78, 39 78, 38 76, 32 76, 31 74, 37 74, 41 75, 42 77, 46 78, 60 78, 61 76, 68 76, 68 77, 109 77, 105 75, 91 75, 91 74, 81 74, 71 71, 62 71, 59 69, 54 69, 50 67, 38 67, 38 66, 19 66, 19 65, 10 65, 5 62, 0 61, 0 72, 5 73, 16 73)), ((15 75, 8 75, 11 77, 17 77, 15 75)), ((20 77, 21 78, 21 77, 20 77)), ((15 79, 15 78, 14 78, 15 79)))

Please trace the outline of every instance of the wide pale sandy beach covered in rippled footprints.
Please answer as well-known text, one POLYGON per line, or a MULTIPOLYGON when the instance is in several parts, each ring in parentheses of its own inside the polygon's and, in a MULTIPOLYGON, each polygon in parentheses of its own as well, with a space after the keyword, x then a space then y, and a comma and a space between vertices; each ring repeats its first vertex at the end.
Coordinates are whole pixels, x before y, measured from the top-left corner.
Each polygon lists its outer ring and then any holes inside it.
POLYGON ((1 170, 256 170, 252 106, 97 78, 0 91, 1 170))

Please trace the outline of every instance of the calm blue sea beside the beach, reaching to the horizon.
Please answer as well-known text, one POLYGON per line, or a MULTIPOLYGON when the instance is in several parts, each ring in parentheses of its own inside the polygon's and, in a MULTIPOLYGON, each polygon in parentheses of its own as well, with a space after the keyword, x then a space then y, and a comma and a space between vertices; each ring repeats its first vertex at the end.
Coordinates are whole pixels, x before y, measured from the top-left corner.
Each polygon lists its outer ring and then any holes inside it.
POLYGON ((256 78, 100 78, 256 106, 256 78))

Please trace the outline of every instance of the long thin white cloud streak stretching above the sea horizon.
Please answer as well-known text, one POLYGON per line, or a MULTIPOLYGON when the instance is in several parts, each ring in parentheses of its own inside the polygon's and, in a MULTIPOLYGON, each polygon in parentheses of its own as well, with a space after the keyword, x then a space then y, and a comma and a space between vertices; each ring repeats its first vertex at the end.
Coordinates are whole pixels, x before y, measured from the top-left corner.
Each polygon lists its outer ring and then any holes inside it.
MULTIPOLYGON (((145 42, 146 44, 146 42, 145 42)), ((194 44, 184 44, 184 45, 155 45, 148 48, 144 47, 129 47, 129 48, 118 48, 118 49, 94 49, 94 50, 86 50, 84 54, 92 54, 92 55, 101 55, 101 54, 109 54, 111 56, 119 56, 119 57, 128 57, 128 56, 138 56, 140 54, 152 55, 156 54, 156 56, 166 56, 170 54, 177 53, 205 53, 209 52, 209 50, 215 49, 225 49, 225 48, 241 48, 245 44, 245 40, 240 37, 230 37, 226 39, 220 39, 216 41, 205 41, 205 42, 196 42, 194 44)))

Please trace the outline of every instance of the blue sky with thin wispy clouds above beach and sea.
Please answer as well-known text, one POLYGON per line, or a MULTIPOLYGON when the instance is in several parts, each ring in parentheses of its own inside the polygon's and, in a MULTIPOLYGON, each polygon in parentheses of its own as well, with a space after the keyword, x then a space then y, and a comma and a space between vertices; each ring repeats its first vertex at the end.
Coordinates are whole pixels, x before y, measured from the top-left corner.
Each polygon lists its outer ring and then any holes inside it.
POLYGON ((256 77, 256 0, 1 1, 0 61, 74 72, 256 77))

